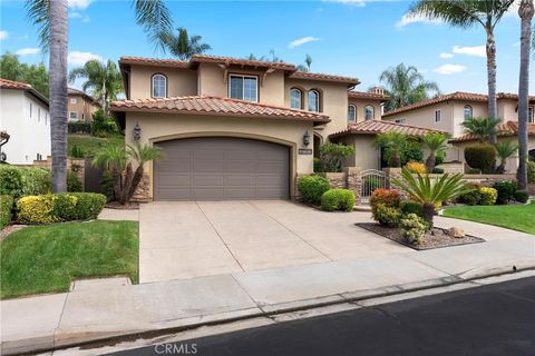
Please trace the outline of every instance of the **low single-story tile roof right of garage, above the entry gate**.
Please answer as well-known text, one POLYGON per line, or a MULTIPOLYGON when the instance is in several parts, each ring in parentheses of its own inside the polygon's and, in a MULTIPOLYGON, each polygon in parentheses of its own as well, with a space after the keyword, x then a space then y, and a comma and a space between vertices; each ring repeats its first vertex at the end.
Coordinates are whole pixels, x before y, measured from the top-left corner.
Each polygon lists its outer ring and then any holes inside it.
POLYGON ((401 125, 390 121, 381 121, 381 120, 368 120, 361 121, 356 125, 349 126, 347 129, 341 130, 339 132, 334 132, 329 135, 330 138, 347 136, 347 135, 378 135, 385 134, 389 131, 401 132, 406 135, 425 135, 427 132, 440 132, 438 130, 430 130, 422 127, 410 126, 410 125, 401 125))

